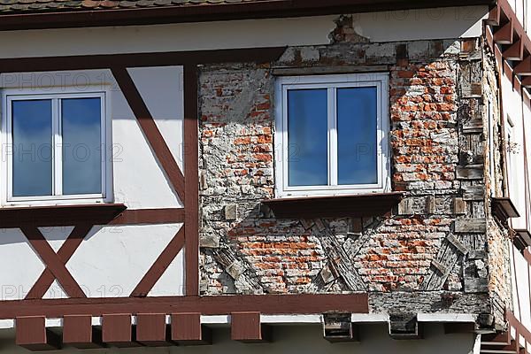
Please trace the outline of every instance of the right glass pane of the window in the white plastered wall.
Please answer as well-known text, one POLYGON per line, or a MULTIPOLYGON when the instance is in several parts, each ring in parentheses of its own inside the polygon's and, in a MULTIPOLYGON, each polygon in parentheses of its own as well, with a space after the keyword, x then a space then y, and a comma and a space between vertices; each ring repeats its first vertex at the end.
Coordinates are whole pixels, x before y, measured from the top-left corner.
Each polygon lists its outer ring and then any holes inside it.
POLYGON ((101 99, 61 100, 63 194, 102 193, 101 99))

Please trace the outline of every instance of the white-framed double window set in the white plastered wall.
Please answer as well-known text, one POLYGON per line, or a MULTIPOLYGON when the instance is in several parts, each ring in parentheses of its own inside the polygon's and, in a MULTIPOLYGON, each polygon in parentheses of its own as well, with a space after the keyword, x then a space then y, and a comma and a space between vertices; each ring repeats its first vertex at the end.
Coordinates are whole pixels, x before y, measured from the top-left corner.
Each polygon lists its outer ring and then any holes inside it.
POLYGON ((112 201, 109 93, 3 89, 3 204, 112 201))

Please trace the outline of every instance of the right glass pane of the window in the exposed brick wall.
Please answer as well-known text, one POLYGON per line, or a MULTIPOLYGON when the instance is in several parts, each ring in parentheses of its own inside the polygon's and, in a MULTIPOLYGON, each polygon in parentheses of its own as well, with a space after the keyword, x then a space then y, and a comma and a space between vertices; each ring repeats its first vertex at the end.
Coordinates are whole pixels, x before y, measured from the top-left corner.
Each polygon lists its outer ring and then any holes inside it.
POLYGON ((338 183, 378 183, 377 89, 337 89, 338 183))

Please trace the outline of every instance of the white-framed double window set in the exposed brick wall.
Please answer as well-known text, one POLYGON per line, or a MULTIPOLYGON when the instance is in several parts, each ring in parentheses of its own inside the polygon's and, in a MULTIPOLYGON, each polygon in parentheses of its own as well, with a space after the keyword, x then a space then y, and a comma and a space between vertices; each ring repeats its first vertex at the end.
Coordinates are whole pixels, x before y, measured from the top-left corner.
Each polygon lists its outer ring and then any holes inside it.
POLYGON ((389 74, 280 77, 277 196, 389 190, 389 74))

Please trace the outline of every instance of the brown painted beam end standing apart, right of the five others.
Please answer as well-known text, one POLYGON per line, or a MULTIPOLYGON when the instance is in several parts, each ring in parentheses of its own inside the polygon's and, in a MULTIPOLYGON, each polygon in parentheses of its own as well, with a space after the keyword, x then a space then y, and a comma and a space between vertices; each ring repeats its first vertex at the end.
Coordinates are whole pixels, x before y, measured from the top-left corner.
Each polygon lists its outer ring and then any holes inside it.
POLYGON ((260 312, 232 312, 231 339, 239 342, 270 342, 271 327, 260 323, 260 312))

